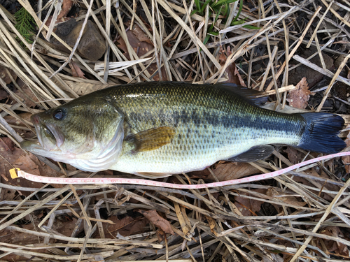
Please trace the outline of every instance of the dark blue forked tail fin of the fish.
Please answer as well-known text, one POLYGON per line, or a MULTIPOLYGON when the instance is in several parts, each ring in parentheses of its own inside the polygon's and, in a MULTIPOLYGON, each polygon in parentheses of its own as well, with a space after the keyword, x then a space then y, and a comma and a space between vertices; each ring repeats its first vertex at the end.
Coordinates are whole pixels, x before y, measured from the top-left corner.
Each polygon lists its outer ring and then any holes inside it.
POLYGON ((322 112, 307 112, 300 115, 306 120, 307 126, 298 147, 325 154, 333 154, 346 147, 344 141, 337 136, 344 125, 342 117, 322 112))

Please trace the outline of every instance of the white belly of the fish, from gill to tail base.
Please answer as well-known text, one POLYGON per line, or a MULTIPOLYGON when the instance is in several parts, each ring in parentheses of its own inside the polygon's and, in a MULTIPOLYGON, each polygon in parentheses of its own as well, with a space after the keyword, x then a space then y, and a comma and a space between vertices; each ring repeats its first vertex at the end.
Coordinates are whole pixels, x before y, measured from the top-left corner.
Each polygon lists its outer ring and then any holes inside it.
POLYGON ((236 140, 235 143, 226 143, 226 145, 219 147, 213 143, 197 143, 197 145, 183 145, 180 149, 176 147, 176 150, 174 150, 174 145, 165 145, 158 150, 149 152, 132 153, 130 150, 123 150, 118 161, 110 169, 145 177, 165 177, 203 170, 216 161, 229 159, 257 145, 279 143, 293 145, 297 142, 297 138, 293 138, 286 132, 277 132, 269 138, 266 135, 265 133, 260 138, 255 136, 255 139, 236 140), (144 173, 152 173, 153 175, 144 173))

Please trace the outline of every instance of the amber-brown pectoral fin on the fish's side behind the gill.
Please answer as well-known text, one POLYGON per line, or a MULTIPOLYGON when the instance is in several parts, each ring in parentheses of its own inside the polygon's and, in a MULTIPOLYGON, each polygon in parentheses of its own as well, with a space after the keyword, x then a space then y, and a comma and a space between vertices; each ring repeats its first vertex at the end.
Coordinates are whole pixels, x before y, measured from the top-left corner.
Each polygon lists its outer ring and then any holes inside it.
POLYGON ((175 129, 173 127, 161 126, 127 136, 126 140, 134 143, 134 152, 145 152, 157 150, 163 145, 172 143, 174 136, 175 129))

